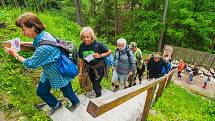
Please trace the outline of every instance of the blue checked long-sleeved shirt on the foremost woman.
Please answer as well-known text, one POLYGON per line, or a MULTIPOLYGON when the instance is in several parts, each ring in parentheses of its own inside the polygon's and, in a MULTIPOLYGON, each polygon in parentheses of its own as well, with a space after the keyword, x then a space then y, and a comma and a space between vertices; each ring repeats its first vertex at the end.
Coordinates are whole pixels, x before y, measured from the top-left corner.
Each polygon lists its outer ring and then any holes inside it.
POLYGON ((58 47, 51 45, 41 45, 42 40, 55 41, 56 39, 48 32, 41 32, 33 41, 36 48, 32 57, 25 59, 23 65, 27 68, 37 68, 42 66, 43 72, 40 81, 44 83, 49 80, 51 87, 54 89, 62 88, 70 82, 70 77, 61 75, 58 69, 58 58, 61 51, 58 47))

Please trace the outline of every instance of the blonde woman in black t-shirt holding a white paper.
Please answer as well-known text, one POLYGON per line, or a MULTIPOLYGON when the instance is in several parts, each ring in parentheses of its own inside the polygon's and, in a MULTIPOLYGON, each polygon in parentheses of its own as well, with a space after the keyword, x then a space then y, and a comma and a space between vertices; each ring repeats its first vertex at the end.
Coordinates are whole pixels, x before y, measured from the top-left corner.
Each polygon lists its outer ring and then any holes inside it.
POLYGON ((111 54, 108 47, 98 41, 91 27, 83 27, 80 33, 82 40, 79 46, 79 80, 83 77, 84 69, 87 68, 90 80, 93 84, 93 90, 96 97, 101 96, 101 80, 105 74, 104 57, 111 54), (86 65, 86 66, 84 66, 86 65))

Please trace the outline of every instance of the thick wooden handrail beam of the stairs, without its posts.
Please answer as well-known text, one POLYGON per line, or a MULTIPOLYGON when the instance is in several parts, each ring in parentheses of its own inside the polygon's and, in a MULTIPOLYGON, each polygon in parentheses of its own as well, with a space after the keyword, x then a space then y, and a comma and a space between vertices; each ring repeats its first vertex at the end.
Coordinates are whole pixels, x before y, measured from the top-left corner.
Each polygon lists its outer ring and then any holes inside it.
POLYGON ((118 105, 148 90, 149 88, 156 86, 160 81, 163 80, 163 78, 166 77, 148 81, 143 83, 142 85, 115 92, 110 96, 92 99, 88 104, 87 112, 90 113, 93 117, 102 115, 103 113, 117 107, 118 105))

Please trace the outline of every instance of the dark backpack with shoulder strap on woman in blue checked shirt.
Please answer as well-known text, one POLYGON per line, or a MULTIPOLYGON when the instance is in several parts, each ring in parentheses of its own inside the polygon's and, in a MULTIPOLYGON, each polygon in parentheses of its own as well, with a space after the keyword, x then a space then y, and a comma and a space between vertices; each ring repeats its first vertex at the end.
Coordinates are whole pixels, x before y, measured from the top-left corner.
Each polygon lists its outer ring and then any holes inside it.
POLYGON ((39 43, 41 45, 53 45, 61 49, 61 51, 76 65, 78 64, 78 50, 74 44, 69 41, 57 39, 57 42, 49 41, 49 40, 42 40, 39 43))

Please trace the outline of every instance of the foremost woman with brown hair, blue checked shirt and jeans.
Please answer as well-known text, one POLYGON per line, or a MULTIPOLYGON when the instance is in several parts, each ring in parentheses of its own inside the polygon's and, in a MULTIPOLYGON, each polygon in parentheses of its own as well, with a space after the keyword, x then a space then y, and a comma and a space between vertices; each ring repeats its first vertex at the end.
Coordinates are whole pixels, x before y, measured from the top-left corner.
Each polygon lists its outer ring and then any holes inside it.
POLYGON ((70 82, 71 78, 63 76, 58 69, 57 62, 61 50, 51 45, 39 46, 39 43, 42 40, 56 42, 56 39, 50 33, 45 31, 45 25, 33 13, 25 13, 21 15, 16 20, 16 25, 21 28, 23 35, 34 39, 32 45, 35 48, 35 52, 30 58, 24 58, 19 55, 14 48, 5 47, 5 50, 8 54, 14 56, 18 61, 23 63, 27 68, 43 67, 43 72, 37 87, 37 95, 51 107, 48 114, 53 114, 62 106, 60 101, 50 93, 51 88, 60 89, 63 92, 63 95, 72 103, 72 106, 69 109, 71 111, 74 110, 80 101, 72 90, 70 82))

